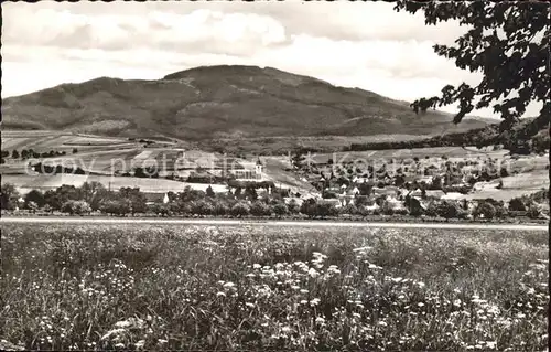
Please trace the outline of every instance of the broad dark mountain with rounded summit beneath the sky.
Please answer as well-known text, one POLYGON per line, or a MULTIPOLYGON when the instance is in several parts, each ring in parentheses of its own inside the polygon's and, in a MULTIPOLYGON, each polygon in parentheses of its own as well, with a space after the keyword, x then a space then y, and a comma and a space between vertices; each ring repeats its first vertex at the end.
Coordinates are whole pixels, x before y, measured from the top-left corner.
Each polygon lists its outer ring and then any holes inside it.
POLYGON ((440 135, 440 111, 415 115, 404 102, 256 66, 204 66, 158 81, 100 77, 2 100, 7 129, 53 129, 186 140, 274 136, 440 135))

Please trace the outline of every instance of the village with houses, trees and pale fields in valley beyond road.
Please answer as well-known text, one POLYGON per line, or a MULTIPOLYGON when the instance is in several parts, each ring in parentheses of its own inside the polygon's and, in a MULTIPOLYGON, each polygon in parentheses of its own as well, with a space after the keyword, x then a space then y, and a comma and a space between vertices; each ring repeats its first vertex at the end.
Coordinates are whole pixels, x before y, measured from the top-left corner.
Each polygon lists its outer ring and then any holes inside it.
MULTIPOLYGON (((267 170, 264 163, 270 159, 266 157, 255 160, 173 150, 169 159, 162 154, 159 167, 155 161, 161 154, 151 159, 151 152, 139 154, 143 158, 137 158, 131 170, 123 166, 111 170, 110 177, 72 174, 72 179, 82 177, 82 182, 24 192, 14 188, 19 196, 2 195, 2 210, 119 216, 549 218, 548 190, 515 184, 534 172, 548 172, 545 156, 369 160, 336 154, 314 158, 298 150, 282 158, 287 159, 287 175, 310 185, 299 188, 279 182, 273 169, 267 170), (118 179, 139 183, 125 181, 125 186, 111 188, 118 179), (153 190, 147 182, 171 183, 153 190)), ((33 170, 44 173, 44 166, 35 164, 33 170)), ((63 177, 75 170, 57 171, 63 177)))

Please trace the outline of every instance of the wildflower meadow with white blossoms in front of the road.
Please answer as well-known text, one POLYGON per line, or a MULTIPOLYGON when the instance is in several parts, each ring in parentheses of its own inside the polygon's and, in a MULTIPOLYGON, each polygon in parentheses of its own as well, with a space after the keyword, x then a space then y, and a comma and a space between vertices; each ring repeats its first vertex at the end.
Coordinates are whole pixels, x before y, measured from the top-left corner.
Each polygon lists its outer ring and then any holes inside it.
POLYGON ((547 346, 548 234, 2 225, 1 339, 40 350, 547 346))

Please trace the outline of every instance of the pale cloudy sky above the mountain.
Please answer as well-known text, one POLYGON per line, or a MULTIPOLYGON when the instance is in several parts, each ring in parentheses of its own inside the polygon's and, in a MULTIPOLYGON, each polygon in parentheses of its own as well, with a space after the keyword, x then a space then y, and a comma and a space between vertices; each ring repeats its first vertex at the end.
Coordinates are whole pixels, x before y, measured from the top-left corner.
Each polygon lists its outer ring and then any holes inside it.
MULTIPOLYGON (((482 77, 432 49, 466 28, 426 26, 421 13, 386 2, 4 2, 2 17, 2 97, 220 64, 276 67, 407 102, 482 77)), ((528 115, 538 111, 530 106, 528 115)), ((495 117, 491 108, 473 115, 495 117)))

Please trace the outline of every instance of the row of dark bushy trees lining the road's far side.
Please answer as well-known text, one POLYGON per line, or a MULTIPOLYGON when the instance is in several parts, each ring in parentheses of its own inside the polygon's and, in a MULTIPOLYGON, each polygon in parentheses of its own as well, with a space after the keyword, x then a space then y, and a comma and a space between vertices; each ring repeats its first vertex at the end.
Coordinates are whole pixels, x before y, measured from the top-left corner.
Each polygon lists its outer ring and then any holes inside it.
POLYGON ((214 215, 214 216, 285 216, 303 214, 311 218, 331 217, 343 214, 348 215, 428 215, 444 218, 503 218, 508 211, 523 211, 531 217, 540 216, 540 210, 531 198, 519 198, 511 200, 509 210, 505 209, 504 202, 491 199, 479 201, 474 210, 469 209, 467 201, 432 200, 421 206, 418 199, 407 196, 403 204, 406 207, 395 207, 393 203, 381 196, 376 200, 377 207, 367 207, 368 198, 358 195, 355 204, 337 209, 335 203, 307 199, 302 205, 295 201, 289 204, 283 202, 279 194, 264 195, 257 200, 244 200, 231 193, 215 194, 212 190, 207 192, 186 188, 183 192, 169 192, 168 203, 148 204, 145 195, 138 188, 122 188, 117 192, 108 191, 100 183, 85 183, 80 188, 62 185, 56 190, 42 193, 32 190, 20 202, 20 195, 11 184, 2 184, 1 206, 3 210, 13 210, 15 206, 30 211, 43 210, 45 212, 60 211, 68 214, 88 214, 101 212, 105 214, 126 216, 144 213, 156 215, 214 215), (364 200, 363 202, 360 200, 364 200))

